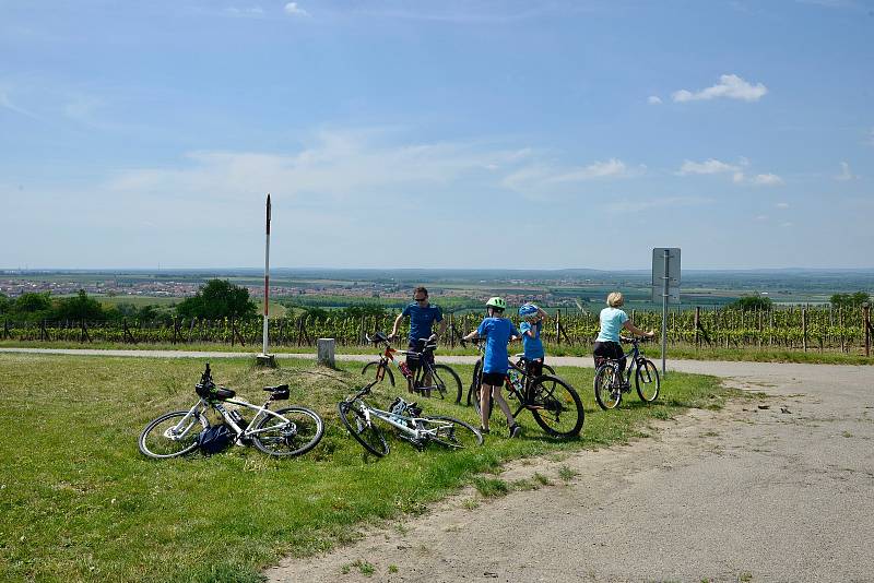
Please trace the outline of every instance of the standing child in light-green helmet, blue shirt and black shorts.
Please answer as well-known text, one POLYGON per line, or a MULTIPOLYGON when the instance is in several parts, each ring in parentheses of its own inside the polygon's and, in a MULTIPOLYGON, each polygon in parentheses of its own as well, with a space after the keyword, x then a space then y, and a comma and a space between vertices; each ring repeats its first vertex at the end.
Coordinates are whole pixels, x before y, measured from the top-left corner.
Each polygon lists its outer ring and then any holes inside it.
POLYGON ((507 354, 507 343, 519 338, 519 331, 513 323, 504 318, 504 310, 507 302, 504 298, 494 297, 485 304, 486 318, 480 326, 464 336, 464 340, 486 338, 485 354, 483 355, 483 380, 480 386, 480 418, 482 420, 482 432, 488 433, 489 400, 494 398, 500 411, 507 417, 507 425, 510 427, 510 437, 519 436, 522 428, 516 423, 510 406, 504 400, 500 388, 504 386, 504 378, 509 369, 509 355, 507 354))

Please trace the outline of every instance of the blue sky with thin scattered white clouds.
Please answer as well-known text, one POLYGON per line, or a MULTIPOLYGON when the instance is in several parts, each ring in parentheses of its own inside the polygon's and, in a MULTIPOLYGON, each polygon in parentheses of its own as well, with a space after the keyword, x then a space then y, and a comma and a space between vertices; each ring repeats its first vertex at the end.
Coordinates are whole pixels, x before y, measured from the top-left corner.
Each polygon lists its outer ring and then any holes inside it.
POLYGON ((874 267, 874 0, 0 0, 0 269, 874 267))

